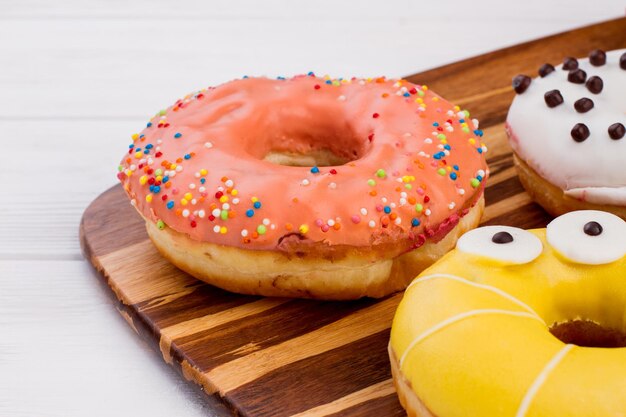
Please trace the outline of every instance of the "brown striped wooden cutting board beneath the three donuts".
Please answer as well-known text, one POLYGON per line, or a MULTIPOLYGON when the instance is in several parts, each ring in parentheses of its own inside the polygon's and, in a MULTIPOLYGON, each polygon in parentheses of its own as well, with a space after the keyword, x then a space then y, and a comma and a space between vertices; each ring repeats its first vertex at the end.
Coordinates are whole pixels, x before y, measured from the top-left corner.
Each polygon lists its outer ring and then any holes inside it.
MULTIPOLYGON (((511 77, 544 62, 626 48, 626 18, 502 49, 408 77, 481 121, 491 178, 483 224, 543 227, 548 215, 522 189, 503 122, 511 77)), ((118 309, 206 392, 218 415, 401 416, 387 358, 401 294, 323 302, 230 294, 181 272, 154 249, 121 186, 98 197, 80 227, 85 256, 118 309)))

